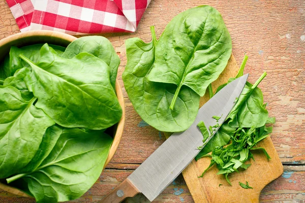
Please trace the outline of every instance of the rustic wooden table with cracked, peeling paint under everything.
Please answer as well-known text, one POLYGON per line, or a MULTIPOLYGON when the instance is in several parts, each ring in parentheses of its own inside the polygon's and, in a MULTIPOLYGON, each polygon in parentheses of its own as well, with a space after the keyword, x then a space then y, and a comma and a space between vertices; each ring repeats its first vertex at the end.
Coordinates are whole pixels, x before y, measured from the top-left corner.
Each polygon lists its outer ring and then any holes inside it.
MULTIPOLYGON (((270 183, 260 195, 260 202, 305 202, 305 2, 265 0, 170 0, 151 1, 136 33, 115 33, 107 37, 118 52, 121 64, 118 79, 126 65, 124 41, 139 37, 151 40, 150 25, 157 37, 178 13, 202 4, 219 10, 230 31, 233 54, 240 64, 247 53, 245 73, 250 81, 266 71, 260 84, 269 113, 277 118, 271 139, 284 165, 282 177, 270 183)), ((19 28, 5 0, 0 0, 0 39, 18 33, 19 28)), ((165 140, 163 133, 147 126, 136 114, 123 88, 126 102, 126 125, 114 158, 96 184, 80 199, 102 199, 125 180, 165 140)), ((35 202, 0 190, 0 202, 35 202)), ((137 195, 125 202, 149 202, 137 195)), ((193 202, 180 175, 154 202, 193 202)))

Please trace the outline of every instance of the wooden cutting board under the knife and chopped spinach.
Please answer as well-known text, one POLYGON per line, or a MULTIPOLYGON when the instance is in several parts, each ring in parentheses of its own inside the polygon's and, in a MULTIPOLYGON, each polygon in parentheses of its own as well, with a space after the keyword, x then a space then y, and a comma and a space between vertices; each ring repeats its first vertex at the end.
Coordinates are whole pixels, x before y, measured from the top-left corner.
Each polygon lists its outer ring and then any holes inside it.
MULTIPOLYGON (((225 71, 220 77, 212 83, 214 92, 217 87, 228 81, 229 78, 235 77, 239 70, 236 60, 231 55, 225 71)), ((259 76, 250 75, 249 78, 254 80, 259 76)), ((253 81, 254 81, 253 80, 253 81)), ((200 107, 208 100, 208 93, 200 100, 200 107)), ((169 133, 165 133, 169 137, 169 133)), ((251 160, 252 165, 245 171, 233 173, 229 175, 232 183, 230 186, 223 175, 216 175, 217 167, 214 165, 204 174, 203 178, 197 178, 207 168, 210 163, 209 157, 203 157, 198 161, 193 160, 182 175, 188 185, 195 203, 211 203, 211 202, 259 202, 261 190, 271 181, 277 179, 283 174, 283 165, 277 154, 275 146, 273 146, 270 137, 264 139, 258 144, 258 147, 264 147, 271 159, 268 161, 264 153, 253 151, 255 161, 251 160), (246 183, 253 189, 244 189, 239 186, 238 182, 246 183), (219 186, 219 184, 223 184, 219 186)))

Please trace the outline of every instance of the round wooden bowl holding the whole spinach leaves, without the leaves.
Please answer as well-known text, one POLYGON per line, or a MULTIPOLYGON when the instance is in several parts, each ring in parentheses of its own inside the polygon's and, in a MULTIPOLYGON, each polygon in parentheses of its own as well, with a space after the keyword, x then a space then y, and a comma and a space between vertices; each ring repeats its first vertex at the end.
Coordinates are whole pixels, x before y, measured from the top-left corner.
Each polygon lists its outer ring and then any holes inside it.
MULTIPOLYGON (((23 47, 32 44, 44 44, 49 43, 53 45, 67 47, 72 41, 76 40, 76 37, 68 35, 66 33, 49 31, 49 30, 40 30, 40 31, 27 31, 22 33, 17 33, 15 35, 9 36, 3 40, 0 40, 0 61, 2 61, 7 53, 10 52, 11 46, 16 47, 23 47)), ((125 104, 124 104, 124 97, 123 92, 119 86, 118 81, 116 80, 115 83, 115 91, 116 96, 118 98, 119 104, 123 110, 122 117, 120 121, 116 124, 114 129, 114 137, 113 143, 111 145, 108 158, 104 165, 104 168, 108 165, 110 160, 112 159, 114 153, 117 150, 118 144, 121 140, 123 134, 123 128, 125 123, 125 104)), ((10 193, 24 196, 24 197, 31 197, 21 190, 8 186, 5 183, 0 182, 0 189, 8 191, 10 193)))

